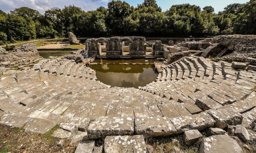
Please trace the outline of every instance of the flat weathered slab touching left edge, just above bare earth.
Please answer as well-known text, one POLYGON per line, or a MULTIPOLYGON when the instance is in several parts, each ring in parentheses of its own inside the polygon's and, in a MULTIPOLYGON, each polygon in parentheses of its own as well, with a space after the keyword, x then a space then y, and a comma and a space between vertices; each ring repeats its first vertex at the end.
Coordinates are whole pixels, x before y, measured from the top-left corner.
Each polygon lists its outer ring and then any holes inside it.
POLYGON ((32 117, 16 115, 14 113, 8 113, 8 114, 4 114, 1 117, 0 124, 5 124, 11 127, 22 127, 31 119, 32 117))

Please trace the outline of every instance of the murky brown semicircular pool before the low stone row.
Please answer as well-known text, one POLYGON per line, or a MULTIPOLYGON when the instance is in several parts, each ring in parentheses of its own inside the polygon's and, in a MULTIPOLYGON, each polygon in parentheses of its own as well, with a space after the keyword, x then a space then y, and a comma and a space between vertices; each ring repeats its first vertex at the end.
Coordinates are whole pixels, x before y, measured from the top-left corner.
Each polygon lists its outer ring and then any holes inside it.
POLYGON ((145 86, 157 78, 153 64, 97 64, 90 65, 99 81, 112 87, 145 86))

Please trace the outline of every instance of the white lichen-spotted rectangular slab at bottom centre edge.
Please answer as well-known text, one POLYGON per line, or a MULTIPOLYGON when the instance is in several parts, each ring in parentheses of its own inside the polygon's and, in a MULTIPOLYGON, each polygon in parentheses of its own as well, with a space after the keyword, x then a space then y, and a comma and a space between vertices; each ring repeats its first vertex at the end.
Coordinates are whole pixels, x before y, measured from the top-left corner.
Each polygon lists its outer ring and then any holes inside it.
POLYGON ((107 136, 104 139, 105 153, 146 153, 146 144, 143 135, 134 136, 107 136))

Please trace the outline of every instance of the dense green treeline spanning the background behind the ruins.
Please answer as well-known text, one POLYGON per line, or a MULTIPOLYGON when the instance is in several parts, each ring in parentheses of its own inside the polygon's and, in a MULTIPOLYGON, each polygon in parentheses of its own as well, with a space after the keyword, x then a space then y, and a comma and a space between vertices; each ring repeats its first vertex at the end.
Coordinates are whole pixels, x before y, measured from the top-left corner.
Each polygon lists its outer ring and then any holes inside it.
POLYGON ((137 7, 111 1, 108 7, 83 11, 80 7, 51 8, 41 15, 28 7, 6 14, 0 10, 0 44, 7 41, 46 37, 66 37, 68 32, 80 37, 142 36, 214 36, 219 34, 255 34, 256 0, 230 4, 218 14, 214 8, 196 5, 173 5, 162 11, 155 0, 145 0, 137 7))

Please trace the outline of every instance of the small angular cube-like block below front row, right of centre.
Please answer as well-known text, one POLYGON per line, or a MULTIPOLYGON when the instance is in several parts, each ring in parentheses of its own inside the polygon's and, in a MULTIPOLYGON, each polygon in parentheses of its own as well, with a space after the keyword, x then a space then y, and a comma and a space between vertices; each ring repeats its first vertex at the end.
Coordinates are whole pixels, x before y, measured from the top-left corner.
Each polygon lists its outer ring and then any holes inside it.
POLYGON ((197 142, 201 136, 202 134, 197 129, 188 130, 184 132, 183 140, 187 145, 192 145, 197 142))

